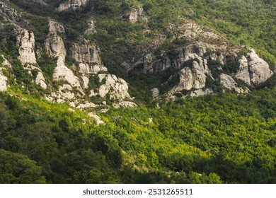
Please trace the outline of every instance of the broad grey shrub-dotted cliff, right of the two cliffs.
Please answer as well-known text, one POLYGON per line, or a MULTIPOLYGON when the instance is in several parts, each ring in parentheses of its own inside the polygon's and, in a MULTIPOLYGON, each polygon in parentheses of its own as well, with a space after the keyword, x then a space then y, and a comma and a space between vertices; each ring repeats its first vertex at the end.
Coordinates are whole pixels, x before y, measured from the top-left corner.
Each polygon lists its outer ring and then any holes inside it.
MULTIPOLYGON (((168 35, 156 35, 151 43, 139 47, 134 62, 125 62, 127 69, 143 66, 144 72, 178 69, 178 83, 166 95, 202 95, 212 93, 218 82, 224 90, 248 93, 249 87, 263 83, 273 72, 255 50, 229 47, 213 30, 183 19, 182 24, 168 24, 168 35), (243 81, 241 85, 237 81, 243 81)), ((168 78, 170 80, 171 78, 168 78)), ((156 97, 154 97, 156 98, 156 97)))

